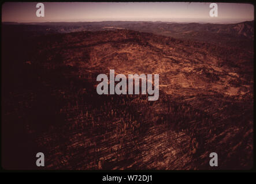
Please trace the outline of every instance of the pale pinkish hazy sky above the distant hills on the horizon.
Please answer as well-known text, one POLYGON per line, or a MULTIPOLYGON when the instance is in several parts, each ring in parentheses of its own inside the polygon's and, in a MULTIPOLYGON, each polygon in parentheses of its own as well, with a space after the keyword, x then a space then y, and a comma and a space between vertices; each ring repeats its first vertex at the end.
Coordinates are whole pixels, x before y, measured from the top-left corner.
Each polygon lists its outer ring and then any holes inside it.
POLYGON ((4 3, 2 22, 254 20, 254 6, 245 3, 217 3, 218 17, 209 16, 210 3, 199 2, 43 2, 45 17, 36 17, 36 3, 4 3))

